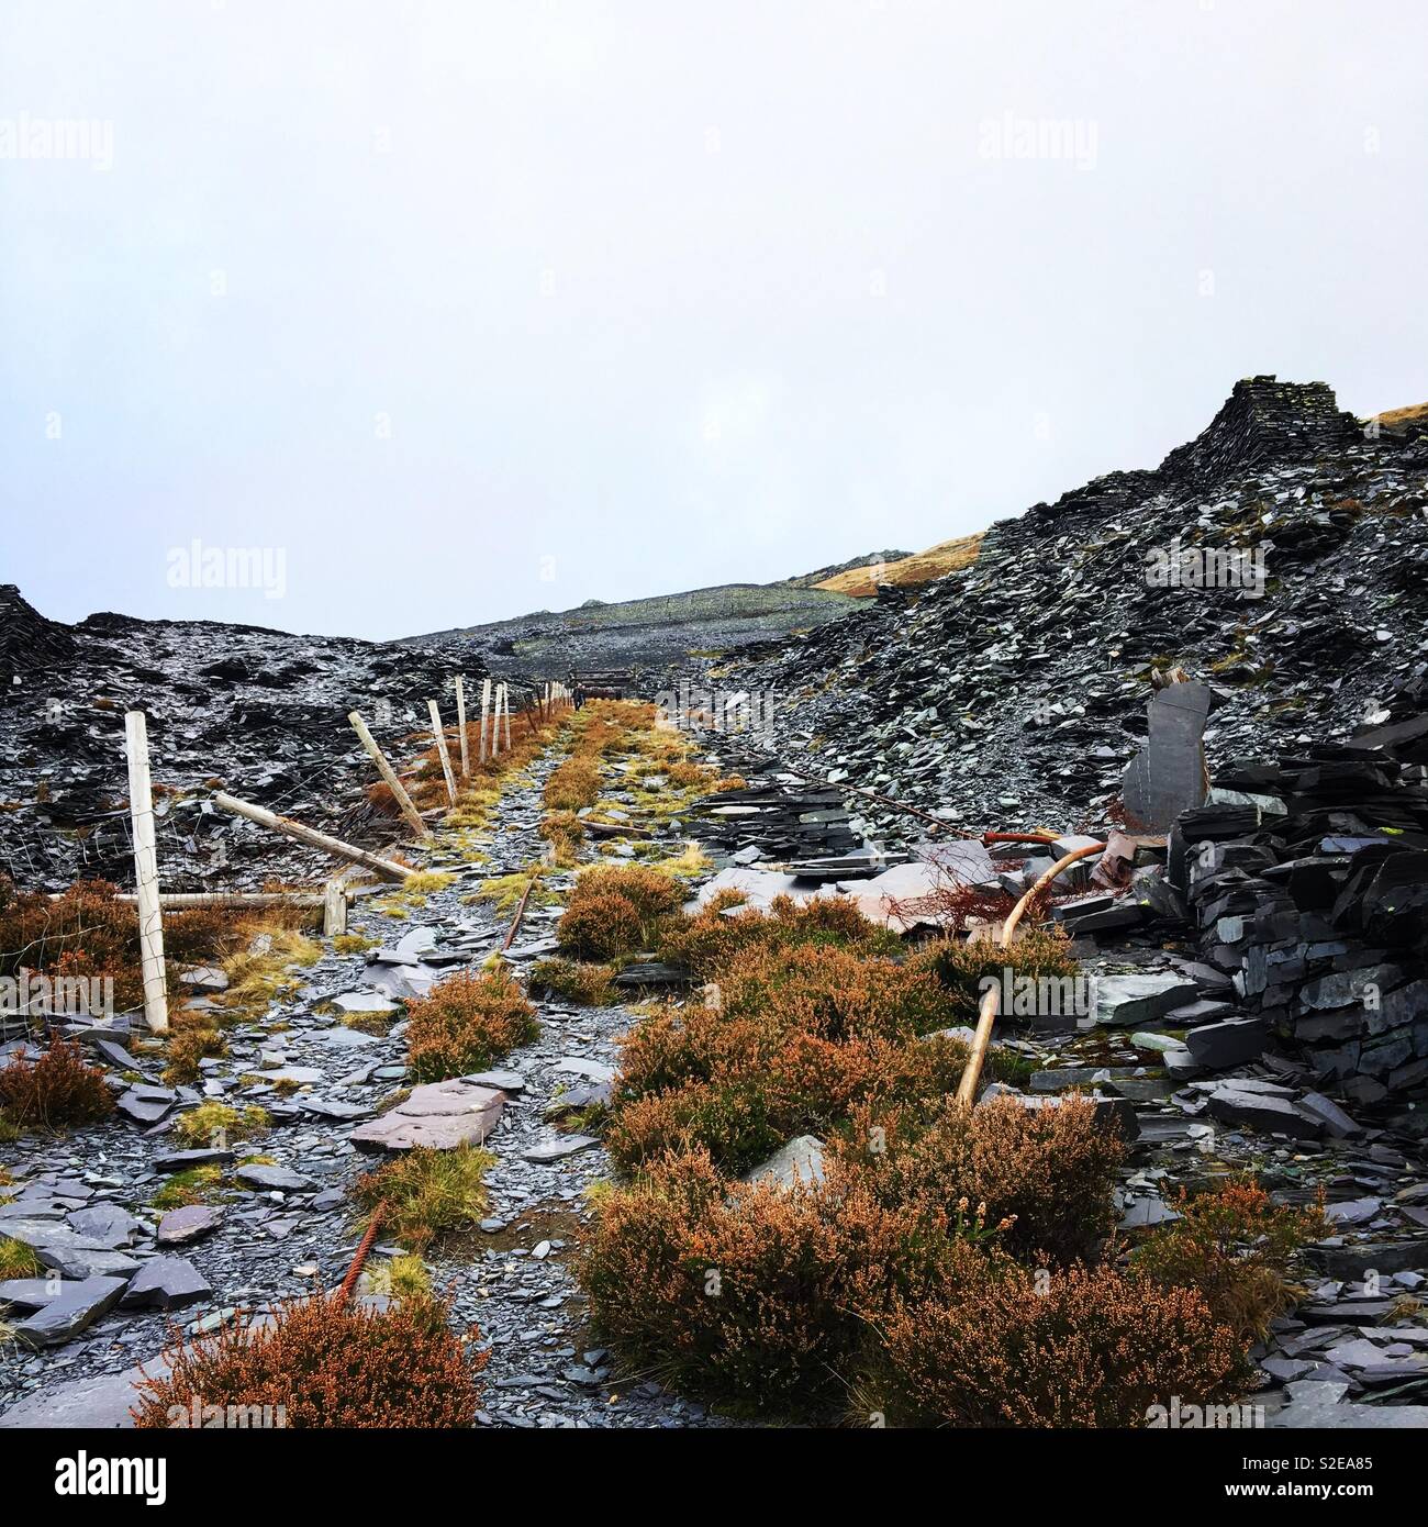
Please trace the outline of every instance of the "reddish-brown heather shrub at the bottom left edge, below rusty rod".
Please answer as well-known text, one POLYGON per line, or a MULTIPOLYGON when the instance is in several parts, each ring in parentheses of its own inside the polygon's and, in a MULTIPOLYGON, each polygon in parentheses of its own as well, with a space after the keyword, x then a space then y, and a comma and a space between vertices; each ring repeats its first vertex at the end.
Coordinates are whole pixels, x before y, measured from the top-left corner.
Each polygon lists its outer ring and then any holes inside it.
MULTIPOLYGON (((134 1425, 168 1428, 171 1408, 283 1406, 293 1428, 466 1428, 480 1400, 484 1353, 469 1353, 440 1299, 383 1312, 327 1295, 279 1304, 273 1324, 232 1322, 166 1348, 171 1368, 145 1377, 134 1425)), ((473 1335, 473 1333, 472 1333, 473 1335)))

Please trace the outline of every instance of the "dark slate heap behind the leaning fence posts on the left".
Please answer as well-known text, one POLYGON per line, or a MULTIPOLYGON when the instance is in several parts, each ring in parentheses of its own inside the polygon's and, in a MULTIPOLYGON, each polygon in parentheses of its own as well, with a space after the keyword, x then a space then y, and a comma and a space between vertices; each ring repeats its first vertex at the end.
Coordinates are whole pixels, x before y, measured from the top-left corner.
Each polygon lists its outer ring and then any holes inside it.
MULTIPOLYGON (((339 837, 389 841, 347 713, 397 751, 403 736, 425 745, 428 696, 454 719, 455 670, 431 647, 113 614, 63 626, 12 585, 0 588, 0 873, 27 890, 131 883, 128 709, 148 715, 165 890, 327 872, 324 857, 208 808, 212 780, 339 837)), ((463 672, 467 686, 483 676, 463 672)))

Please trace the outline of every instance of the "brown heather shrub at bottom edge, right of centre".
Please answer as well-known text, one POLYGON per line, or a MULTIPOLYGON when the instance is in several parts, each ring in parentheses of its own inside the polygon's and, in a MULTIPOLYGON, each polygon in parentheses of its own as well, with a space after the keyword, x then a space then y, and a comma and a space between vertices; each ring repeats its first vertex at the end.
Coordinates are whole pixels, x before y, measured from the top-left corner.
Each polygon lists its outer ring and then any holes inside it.
POLYGON ((950 1426, 1144 1426, 1152 1405, 1243 1393, 1243 1351, 1205 1301, 1112 1267, 1069 1267, 1042 1292, 1005 1257, 881 1321, 886 1408, 950 1426))

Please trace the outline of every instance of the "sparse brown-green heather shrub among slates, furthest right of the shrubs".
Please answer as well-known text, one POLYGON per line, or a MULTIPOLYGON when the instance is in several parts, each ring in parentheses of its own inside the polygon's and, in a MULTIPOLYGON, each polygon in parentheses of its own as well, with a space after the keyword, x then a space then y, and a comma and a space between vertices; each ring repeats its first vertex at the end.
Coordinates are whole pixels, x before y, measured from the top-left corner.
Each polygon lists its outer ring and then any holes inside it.
POLYGON ((1242 1341, 1263 1339, 1295 1303, 1292 1257, 1329 1232, 1323 1205, 1277 1205, 1252 1177, 1237 1177, 1213 1193, 1181 1188, 1174 1208, 1181 1217, 1141 1241, 1132 1267, 1162 1287, 1197 1290, 1242 1341))

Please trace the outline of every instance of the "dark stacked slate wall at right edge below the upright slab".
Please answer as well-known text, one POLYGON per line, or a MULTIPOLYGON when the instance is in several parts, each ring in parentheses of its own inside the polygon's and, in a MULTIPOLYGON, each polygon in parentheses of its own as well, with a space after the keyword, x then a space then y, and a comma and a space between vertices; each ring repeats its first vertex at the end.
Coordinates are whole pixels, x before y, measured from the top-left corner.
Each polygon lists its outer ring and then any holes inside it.
POLYGON ((1168 841, 1202 959, 1362 1104, 1428 1090, 1428 673, 1396 709, 1347 744, 1220 771, 1168 841))

